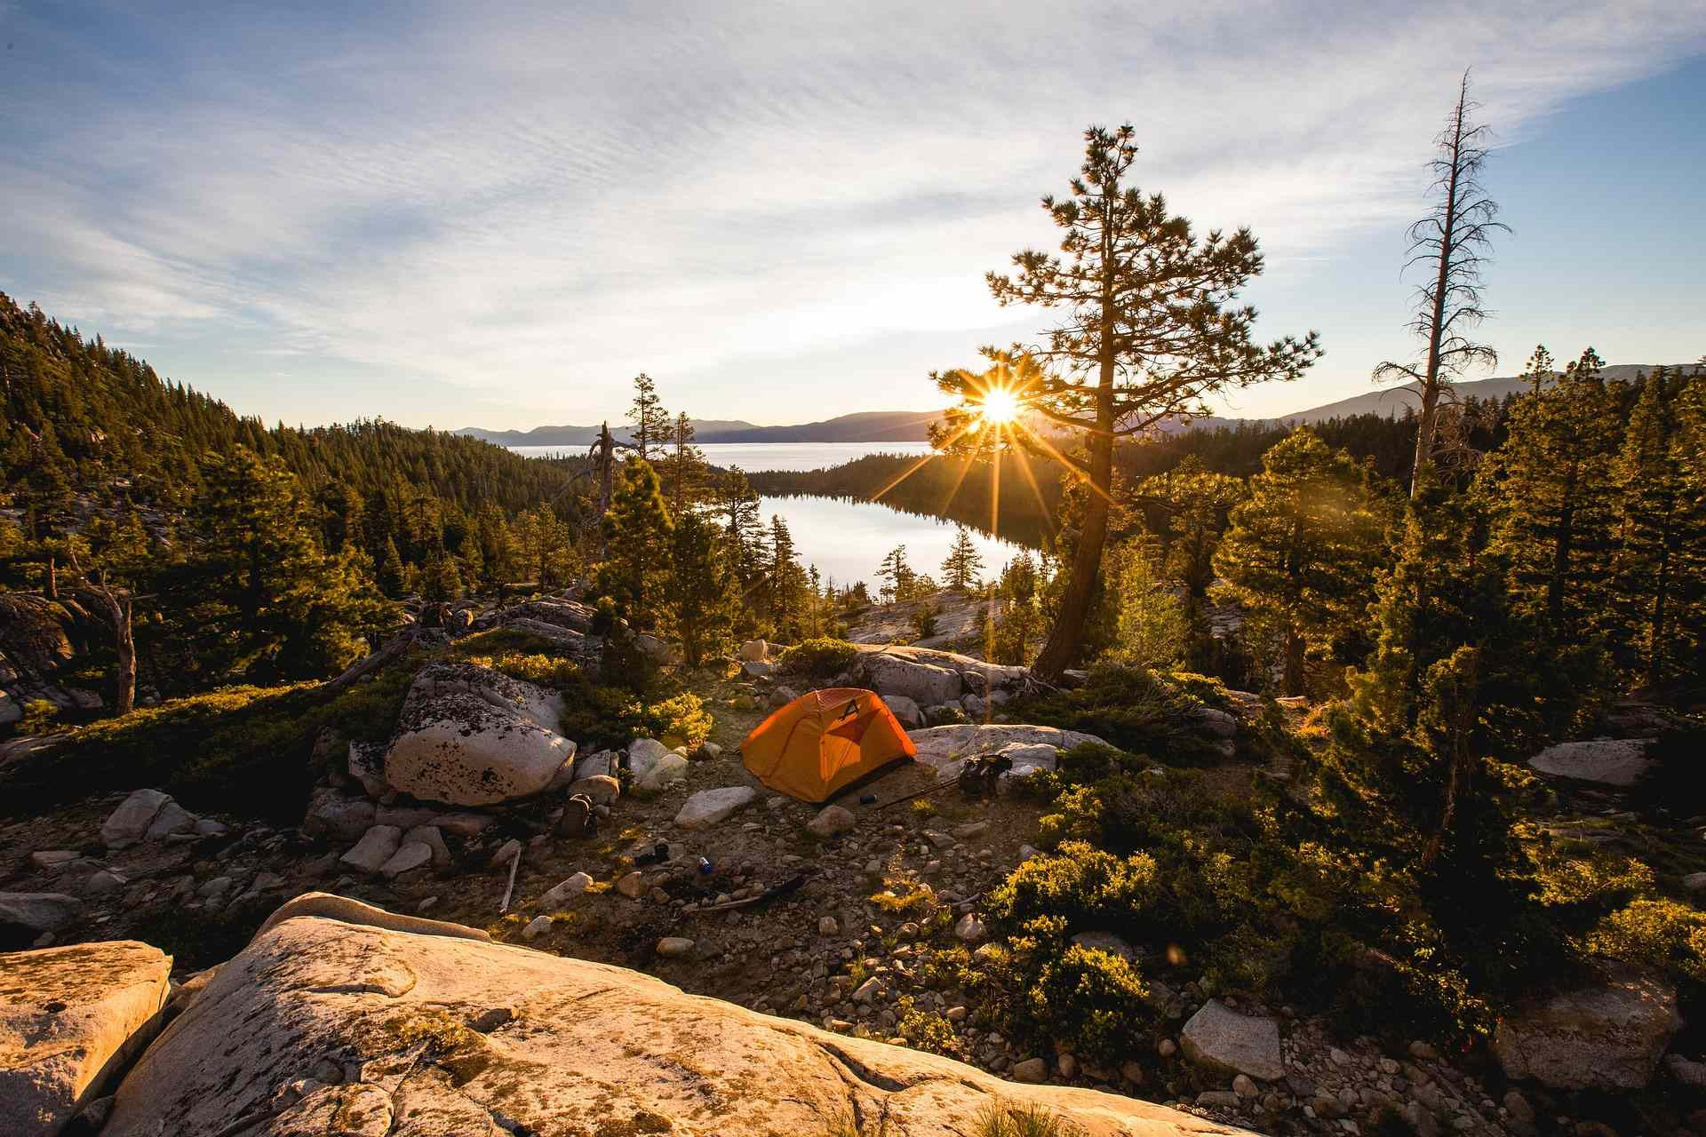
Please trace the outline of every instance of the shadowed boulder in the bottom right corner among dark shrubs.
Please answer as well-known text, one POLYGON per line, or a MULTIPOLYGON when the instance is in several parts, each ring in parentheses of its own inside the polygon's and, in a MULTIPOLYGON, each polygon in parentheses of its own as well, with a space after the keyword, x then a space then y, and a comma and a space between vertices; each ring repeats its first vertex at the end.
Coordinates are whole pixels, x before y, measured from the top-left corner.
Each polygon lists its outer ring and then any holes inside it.
POLYGON ((1493 1033, 1508 1077, 1554 1089, 1641 1089, 1682 1026, 1677 989, 1643 968, 1523 1004, 1493 1033))

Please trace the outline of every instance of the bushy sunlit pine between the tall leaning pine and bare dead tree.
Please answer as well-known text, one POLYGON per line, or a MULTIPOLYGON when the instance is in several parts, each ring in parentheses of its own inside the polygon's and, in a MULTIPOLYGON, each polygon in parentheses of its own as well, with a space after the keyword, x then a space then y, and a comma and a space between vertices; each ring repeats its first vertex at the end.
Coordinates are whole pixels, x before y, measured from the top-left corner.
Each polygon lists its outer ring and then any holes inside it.
POLYGON ((1257 636, 1278 639, 1286 694, 1303 694, 1307 651, 1327 653, 1360 624, 1382 527, 1363 469, 1314 431, 1300 428, 1262 455, 1215 569, 1257 636))

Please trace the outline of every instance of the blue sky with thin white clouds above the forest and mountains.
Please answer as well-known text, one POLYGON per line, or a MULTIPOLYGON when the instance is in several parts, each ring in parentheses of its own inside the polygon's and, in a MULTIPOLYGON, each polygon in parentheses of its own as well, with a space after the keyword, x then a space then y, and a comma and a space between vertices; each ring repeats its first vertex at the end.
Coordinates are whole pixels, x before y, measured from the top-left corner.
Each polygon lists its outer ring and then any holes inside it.
POLYGON ((0 290, 290 423, 930 407, 1032 338, 983 283, 1088 123, 1315 327, 1273 414, 1409 349, 1402 230, 1474 66, 1513 234, 1486 336, 1706 353, 1706 3, 0 0, 0 290))

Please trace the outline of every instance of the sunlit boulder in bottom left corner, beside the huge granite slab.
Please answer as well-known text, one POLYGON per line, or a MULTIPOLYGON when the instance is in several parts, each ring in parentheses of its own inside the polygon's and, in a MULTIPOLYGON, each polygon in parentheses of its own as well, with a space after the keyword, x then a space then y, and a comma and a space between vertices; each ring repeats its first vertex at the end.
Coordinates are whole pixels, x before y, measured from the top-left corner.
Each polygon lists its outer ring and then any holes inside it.
POLYGON ((0 1130, 51 1137, 154 1036, 172 958, 133 939, 0 955, 0 1130))

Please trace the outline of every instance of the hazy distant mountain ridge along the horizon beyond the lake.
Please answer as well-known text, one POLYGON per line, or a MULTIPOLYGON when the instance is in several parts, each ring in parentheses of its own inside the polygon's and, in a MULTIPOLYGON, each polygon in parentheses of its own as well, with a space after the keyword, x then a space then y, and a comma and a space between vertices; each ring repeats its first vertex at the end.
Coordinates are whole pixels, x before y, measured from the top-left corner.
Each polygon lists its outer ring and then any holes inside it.
MULTIPOLYGON (((1658 366, 1687 368, 1691 363, 1614 363, 1605 368, 1609 380, 1633 380, 1658 366)), ((1457 384, 1459 394, 1476 399, 1503 399, 1529 389, 1529 378, 1505 375, 1457 384)), ((1191 426, 1221 426, 1233 423, 1322 423, 1353 414, 1385 414, 1397 418, 1406 407, 1416 406, 1416 394, 1406 387, 1380 387, 1361 395, 1324 402, 1307 411, 1293 411, 1274 418, 1206 418, 1182 419, 1165 426, 1169 433, 1191 426)), ((928 442, 930 424, 942 418, 940 411, 862 411, 841 414, 817 423, 793 426, 757 426, 744 419, 691 419, 696 442, 928 442)), ((483 438, 500 447, 590 447, 597 426, 536 426, 534 430, 485 430, 464 426, 457 435, 483 438)), ((612 426, 611 433, 624 442, 633 438, 628 426, 612 426)))

